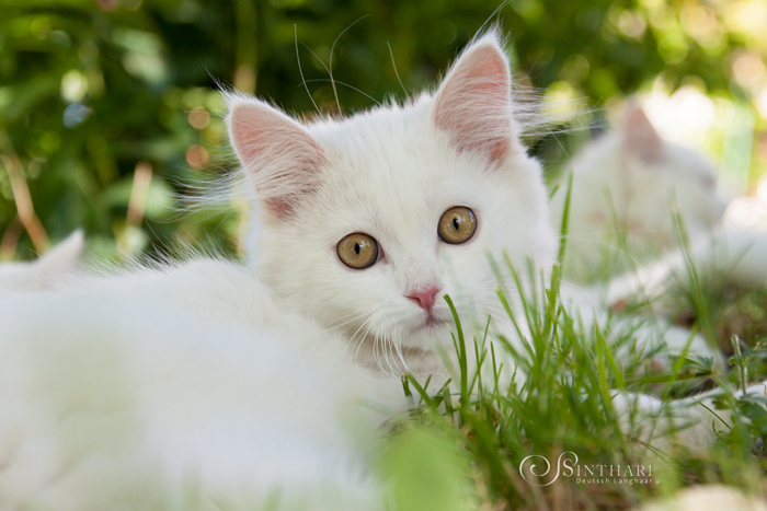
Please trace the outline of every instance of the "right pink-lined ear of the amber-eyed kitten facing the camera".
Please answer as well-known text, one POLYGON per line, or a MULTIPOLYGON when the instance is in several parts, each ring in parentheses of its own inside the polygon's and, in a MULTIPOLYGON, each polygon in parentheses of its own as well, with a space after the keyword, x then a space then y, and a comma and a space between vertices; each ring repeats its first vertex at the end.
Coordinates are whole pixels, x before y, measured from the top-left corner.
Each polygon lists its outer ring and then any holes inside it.
POLYGON ((516 141, 508 60, 494 34, 469 46, 445 77, 434 100, 434 125, 460 151, 501 161, 516 141))

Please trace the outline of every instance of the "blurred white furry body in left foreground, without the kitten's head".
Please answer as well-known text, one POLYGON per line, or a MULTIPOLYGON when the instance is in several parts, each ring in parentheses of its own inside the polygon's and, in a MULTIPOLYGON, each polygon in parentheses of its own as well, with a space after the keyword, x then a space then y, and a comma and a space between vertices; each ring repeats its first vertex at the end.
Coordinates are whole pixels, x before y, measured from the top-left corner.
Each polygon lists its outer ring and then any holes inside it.
POLYGON ((399 382, 355 368, 244 268, 5 293, 0 310, 0 509, 380 501, 365 453, 399 382))

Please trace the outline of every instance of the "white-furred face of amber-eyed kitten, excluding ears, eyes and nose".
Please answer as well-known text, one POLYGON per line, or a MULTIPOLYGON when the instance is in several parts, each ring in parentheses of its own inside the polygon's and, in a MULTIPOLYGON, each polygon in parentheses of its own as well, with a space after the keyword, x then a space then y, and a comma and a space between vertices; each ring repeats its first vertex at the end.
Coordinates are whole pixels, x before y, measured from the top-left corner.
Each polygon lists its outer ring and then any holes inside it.
POLYGON ((486 253, 505 248, 519 263, 524 255, 549 263, 546 199, 539 169, 524 153, 495 169, 425 129, 382 139, 380 127, 371 115, 327 133, 323 148, 334 156, 324 181, 295 222, 264 228, 261 275, 325 325, 423 348, 422 336, 445 337, 453 324, 444 294, 463 307, 497 304, 486 253), (456 206, 473 211, 477 229, 449 244, 438 224, 456 206), (365 269, 339 257, 339 242, 352 233, 378 244, 378 260, 365 269), (434 288, 431 311, 409 298, 434 288))

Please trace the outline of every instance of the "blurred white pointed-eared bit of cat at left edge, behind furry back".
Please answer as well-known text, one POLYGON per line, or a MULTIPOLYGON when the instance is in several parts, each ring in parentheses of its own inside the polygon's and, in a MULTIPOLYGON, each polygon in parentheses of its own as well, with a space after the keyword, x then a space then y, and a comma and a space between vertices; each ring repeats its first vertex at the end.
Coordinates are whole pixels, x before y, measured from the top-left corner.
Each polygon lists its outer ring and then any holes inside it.
POLYGON ((49 289, 77 269, 84 241, 82 231, 75 231, 33 263, 0 265, 0 288, 7 290, 49 289))

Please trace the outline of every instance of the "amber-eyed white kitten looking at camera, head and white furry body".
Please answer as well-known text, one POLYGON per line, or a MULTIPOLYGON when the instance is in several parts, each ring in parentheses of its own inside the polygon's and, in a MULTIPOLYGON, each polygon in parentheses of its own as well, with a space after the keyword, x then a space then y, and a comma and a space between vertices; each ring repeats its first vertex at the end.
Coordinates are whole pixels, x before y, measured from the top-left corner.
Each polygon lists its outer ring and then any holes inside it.
POLYGON ((204 259, 0 294, 0 508, 379 509, 367 448, 407 406, 399 374, 446 375, 443 297, 483 324, 486 253, 553 263, 494 34, 403 106, 229 106, 255 275, 204 259))

